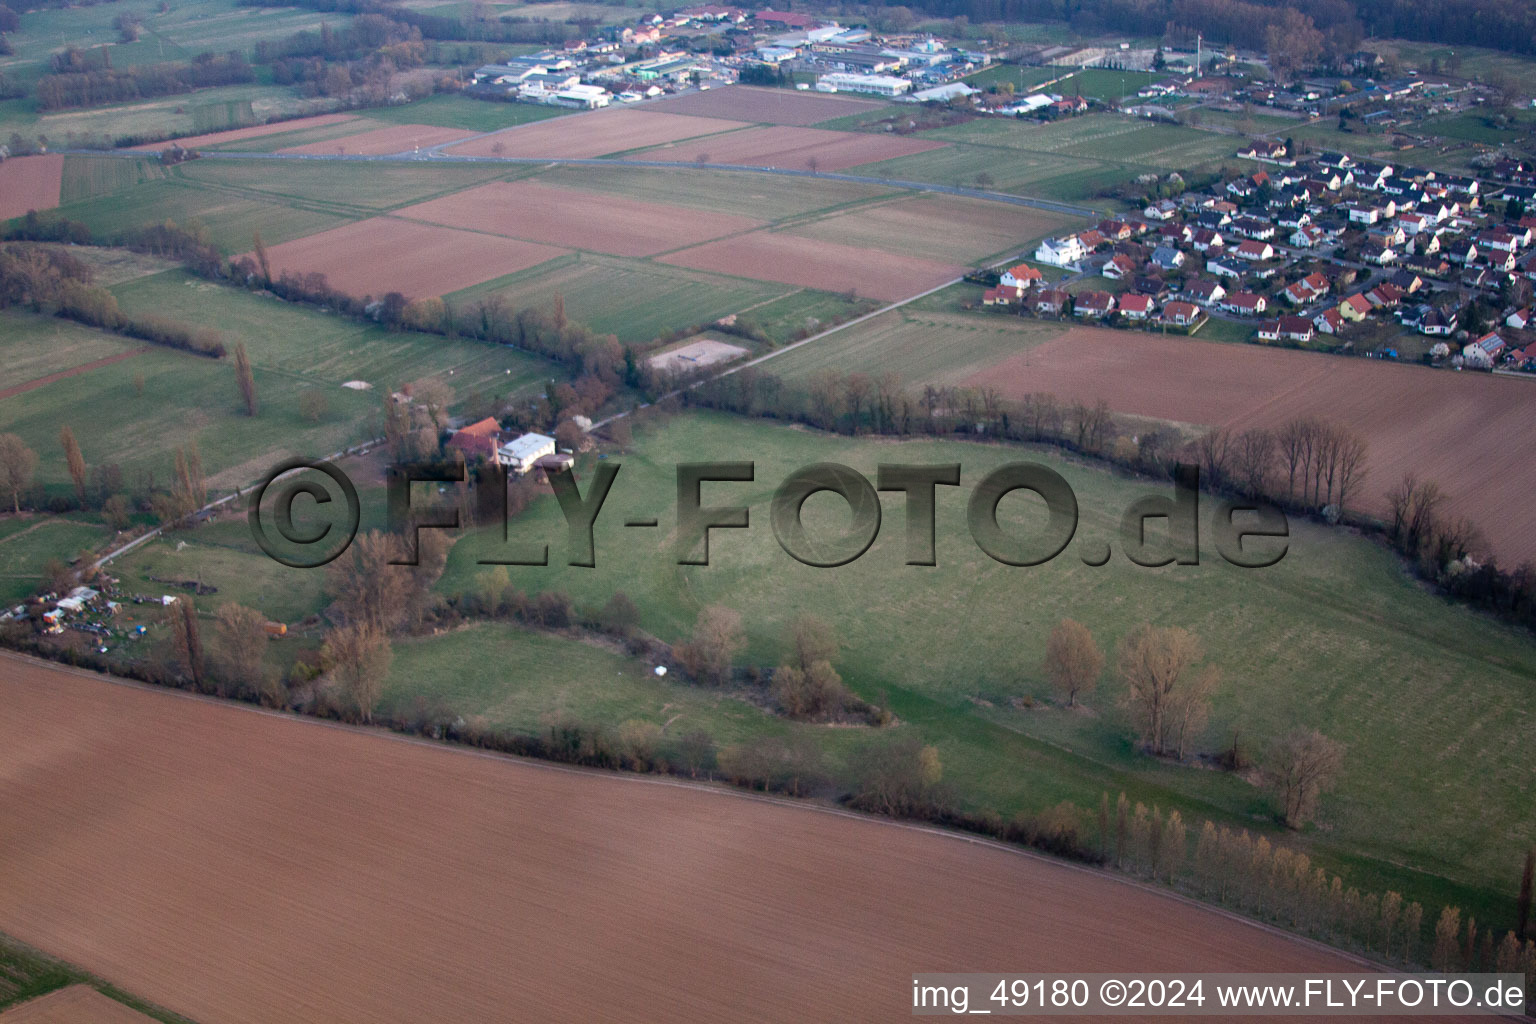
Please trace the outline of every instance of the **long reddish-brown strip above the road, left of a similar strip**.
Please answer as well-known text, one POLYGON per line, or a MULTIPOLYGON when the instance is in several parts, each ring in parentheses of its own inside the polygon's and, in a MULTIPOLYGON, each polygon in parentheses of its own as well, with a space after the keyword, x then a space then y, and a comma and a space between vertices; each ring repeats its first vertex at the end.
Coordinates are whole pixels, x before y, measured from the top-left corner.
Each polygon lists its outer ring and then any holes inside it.
POLYGON ((746 127, 746 123, 608 107, 593 114, 571 114, 519 124, 461 146, 450 146, 444 152, 455 157, 607 157, 627 149, 660 146, 736 127, 746 127))

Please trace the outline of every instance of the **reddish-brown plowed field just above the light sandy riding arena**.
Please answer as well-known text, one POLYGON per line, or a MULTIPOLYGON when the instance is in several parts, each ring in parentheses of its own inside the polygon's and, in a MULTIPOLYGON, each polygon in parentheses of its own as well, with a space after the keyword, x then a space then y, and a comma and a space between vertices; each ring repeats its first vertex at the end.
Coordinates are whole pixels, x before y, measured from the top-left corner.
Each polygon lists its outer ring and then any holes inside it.
POLYGON ((859 249, 782 232, 751 232, 684 249, 662 263, 894 302, 958 278, 958 264, 859 249))

